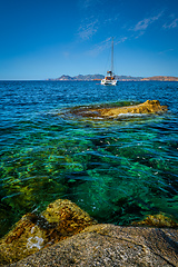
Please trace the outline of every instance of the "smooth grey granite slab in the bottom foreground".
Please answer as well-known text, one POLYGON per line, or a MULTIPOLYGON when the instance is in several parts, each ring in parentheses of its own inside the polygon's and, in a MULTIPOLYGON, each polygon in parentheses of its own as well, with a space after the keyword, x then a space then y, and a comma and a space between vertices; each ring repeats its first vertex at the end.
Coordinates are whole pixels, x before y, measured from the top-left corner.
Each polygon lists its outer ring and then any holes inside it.
POLYGON ((9 266, 178 266, 178 230, 90 226, 9 266))

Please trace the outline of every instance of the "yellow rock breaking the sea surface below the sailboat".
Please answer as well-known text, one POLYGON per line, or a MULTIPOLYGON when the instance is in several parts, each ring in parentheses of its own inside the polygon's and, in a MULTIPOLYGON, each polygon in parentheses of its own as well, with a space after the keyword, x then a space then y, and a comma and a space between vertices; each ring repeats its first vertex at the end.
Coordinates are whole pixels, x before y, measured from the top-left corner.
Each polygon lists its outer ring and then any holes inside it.
POLYGON ((78 108, 70 111, 73 115, 90 118, 116 118, 122 113, 159 113, 167 111, 167 106, 160 106, 159 100, 147 100, 144 103, 111 108, 78 108))

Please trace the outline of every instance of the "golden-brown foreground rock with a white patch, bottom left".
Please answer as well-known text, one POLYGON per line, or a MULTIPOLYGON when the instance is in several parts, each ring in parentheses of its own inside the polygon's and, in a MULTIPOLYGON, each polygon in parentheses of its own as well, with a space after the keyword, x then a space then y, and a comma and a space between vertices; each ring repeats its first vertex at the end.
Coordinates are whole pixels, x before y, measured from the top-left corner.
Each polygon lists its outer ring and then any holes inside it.
POLYGON ((76 204, 58 199, 41 215, 24 215, 0 240, 0 265, 18 261, 95 224, 76 204))

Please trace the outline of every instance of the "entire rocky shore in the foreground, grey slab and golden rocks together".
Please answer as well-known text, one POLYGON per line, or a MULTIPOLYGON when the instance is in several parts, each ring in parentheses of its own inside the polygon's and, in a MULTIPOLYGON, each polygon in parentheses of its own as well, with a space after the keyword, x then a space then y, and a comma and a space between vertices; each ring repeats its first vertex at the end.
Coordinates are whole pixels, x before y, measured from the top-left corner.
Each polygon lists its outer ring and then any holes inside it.
POLYGON ((23 216, 0 240, 0 266, 178 266, 178 224, 160 214, 141 225, 97 224, 58 199, 41 215, 23 216))

